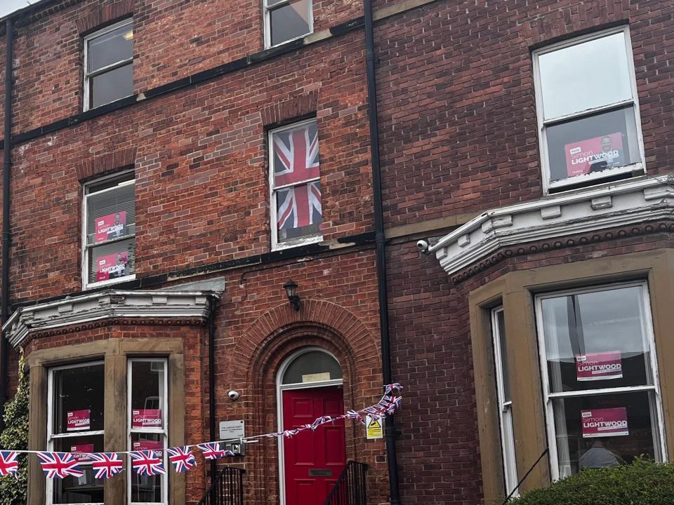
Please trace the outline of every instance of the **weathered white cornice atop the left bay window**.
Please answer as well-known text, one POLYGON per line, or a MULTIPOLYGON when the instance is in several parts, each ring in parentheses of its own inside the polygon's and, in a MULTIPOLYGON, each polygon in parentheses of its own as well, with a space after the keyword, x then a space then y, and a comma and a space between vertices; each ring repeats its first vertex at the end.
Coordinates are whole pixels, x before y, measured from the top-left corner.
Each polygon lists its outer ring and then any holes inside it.
POLYGON ((22 307, 12 314, 2 332, 14 347, 18 347, 29 335, 92 321, 150 319, 199 323, 211 314, 211 297, 218 295, 212 291, 105 290, 22 307))

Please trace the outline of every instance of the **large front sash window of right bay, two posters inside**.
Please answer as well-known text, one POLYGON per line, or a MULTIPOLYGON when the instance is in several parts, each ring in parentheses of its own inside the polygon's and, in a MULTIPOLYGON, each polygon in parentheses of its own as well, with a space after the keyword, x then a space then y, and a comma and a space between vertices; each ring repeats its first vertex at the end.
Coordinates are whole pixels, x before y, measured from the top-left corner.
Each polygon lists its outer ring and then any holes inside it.
POLYGON ((646 284, 539 295, 536 314, 553 478, 663 459, 646 284))

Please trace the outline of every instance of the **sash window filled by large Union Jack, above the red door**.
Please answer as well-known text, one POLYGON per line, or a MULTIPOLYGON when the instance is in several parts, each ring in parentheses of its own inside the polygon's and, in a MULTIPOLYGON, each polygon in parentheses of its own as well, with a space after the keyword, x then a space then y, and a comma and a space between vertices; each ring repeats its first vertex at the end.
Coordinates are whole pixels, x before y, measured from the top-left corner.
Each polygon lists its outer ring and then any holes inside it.
POLYGON ((320 236, 321 205, 316 121, 272 133, 278 241, 320 236))

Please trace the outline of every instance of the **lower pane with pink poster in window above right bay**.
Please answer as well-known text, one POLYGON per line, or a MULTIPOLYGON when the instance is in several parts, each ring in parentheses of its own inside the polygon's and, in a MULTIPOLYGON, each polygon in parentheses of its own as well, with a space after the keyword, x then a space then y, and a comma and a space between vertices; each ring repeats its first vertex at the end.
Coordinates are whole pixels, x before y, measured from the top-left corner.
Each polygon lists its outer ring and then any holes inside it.
POLYGON ((633 107, 548 126, 546 137, 550 181, 641 161, 633 107))

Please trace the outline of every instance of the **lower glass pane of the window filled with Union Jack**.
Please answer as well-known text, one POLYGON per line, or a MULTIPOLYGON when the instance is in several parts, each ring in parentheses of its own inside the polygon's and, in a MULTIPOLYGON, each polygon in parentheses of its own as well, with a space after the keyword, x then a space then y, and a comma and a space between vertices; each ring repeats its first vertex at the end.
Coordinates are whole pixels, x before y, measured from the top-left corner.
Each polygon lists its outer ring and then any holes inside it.
POLYGON ((279 243, 320 236, 322 212, 320 182, 279 189, 276 193, 279 243))

